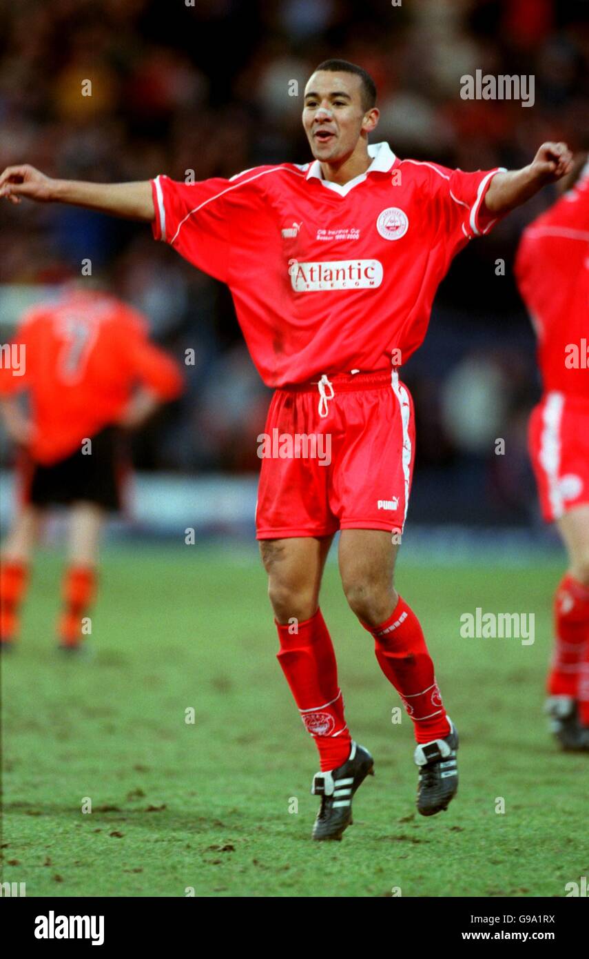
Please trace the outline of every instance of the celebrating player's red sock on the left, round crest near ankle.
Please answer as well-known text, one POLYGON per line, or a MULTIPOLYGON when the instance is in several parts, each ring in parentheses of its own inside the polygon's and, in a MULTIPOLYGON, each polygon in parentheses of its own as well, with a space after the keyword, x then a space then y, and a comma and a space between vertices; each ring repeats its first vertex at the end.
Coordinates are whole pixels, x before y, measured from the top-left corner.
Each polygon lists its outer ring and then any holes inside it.
POLYGON ((294 626, 276 623, 278 661, 299 707, 306 730, 319 750, 321 771, 336 769, 350 756, 351 737, 344 700, 337 685, 337 663, 321 610, 294 626))

